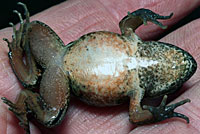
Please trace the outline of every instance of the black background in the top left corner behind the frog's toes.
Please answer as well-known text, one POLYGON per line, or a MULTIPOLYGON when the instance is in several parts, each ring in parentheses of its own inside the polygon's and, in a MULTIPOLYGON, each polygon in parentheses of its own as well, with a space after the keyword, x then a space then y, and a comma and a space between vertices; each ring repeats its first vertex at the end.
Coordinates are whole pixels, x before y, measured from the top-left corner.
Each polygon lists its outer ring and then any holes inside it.
POLYGON ((13 22, 14 24, 19 22, 19 18, 15 13, 13 13, 13 10, 18 10, 19 12, 24 13, 22 6, 17 5, 17 2, 19 1, 26 4, 30 15, 32 16, 66 0, 1 0, 0 29, 8 27, 9 22, 13 22))

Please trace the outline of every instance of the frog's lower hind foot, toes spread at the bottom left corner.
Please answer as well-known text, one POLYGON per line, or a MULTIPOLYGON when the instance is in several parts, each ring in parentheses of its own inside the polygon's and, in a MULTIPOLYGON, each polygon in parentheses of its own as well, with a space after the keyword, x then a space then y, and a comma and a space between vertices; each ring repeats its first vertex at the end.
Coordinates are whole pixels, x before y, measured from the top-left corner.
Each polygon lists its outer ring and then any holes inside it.
POLYGON ((9 110, 12 111, 20 120, 19 125, 26 131, 26 134, 30 134, 29 122, 27 119, 27 112, 25 111, 25 109, 23 109, 20 106, 17 106, 5 97, 2 97, 1 99, 5 104, 9 106, 9 110))

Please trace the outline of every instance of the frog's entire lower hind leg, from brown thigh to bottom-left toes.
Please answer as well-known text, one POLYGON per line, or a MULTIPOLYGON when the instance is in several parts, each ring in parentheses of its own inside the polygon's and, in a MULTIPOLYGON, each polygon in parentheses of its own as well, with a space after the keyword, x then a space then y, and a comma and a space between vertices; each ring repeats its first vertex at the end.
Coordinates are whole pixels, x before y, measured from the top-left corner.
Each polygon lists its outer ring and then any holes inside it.
POLYGON ((46 127, 58 125, 66 114, 69 97, 70 88, 66 75, 60 67, 53 66, 47 68, 43 74, 40 94, 25 89, 20 92, 16 103, 5 97, 2 100, 20 120, 20 126, 29 134, 27 114, 33 114, 36 120, 46 127))

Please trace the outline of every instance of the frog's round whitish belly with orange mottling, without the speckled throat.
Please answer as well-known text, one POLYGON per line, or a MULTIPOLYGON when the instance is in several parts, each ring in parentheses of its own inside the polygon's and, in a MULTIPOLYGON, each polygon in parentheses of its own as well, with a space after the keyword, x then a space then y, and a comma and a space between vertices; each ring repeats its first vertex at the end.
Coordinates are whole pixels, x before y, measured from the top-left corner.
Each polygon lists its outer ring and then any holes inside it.
POLYGON ((137 44, 110 32, 81 37, 64 56, 72 92, 98 106, 117 105, 139 85, 137 44))

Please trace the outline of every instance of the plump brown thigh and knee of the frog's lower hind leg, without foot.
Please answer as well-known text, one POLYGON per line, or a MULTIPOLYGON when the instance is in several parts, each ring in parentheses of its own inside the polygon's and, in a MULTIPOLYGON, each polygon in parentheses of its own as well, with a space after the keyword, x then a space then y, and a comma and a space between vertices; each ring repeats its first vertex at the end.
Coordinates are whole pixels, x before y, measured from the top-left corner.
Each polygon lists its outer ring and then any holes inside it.
POLYGON ((40 100, 37 105, 28 102, 35 118, 47 127, 53 127, 64 119, 70 100, 70 83, 68 74, 60 66, 48 67, 40 84, 40 100), (35 109, 35 106, 42 107, 35 109))

